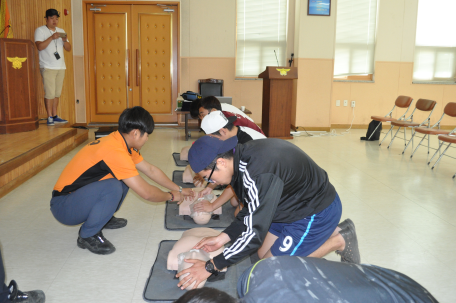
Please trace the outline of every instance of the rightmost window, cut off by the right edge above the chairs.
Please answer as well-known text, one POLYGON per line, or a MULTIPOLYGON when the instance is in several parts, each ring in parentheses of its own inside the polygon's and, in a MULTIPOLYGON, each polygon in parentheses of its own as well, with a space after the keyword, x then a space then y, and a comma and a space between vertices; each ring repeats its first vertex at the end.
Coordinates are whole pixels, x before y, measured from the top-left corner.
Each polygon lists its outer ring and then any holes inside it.
POLYGON ((455 82, 456 1, 420 0, 413 80, 455 82))

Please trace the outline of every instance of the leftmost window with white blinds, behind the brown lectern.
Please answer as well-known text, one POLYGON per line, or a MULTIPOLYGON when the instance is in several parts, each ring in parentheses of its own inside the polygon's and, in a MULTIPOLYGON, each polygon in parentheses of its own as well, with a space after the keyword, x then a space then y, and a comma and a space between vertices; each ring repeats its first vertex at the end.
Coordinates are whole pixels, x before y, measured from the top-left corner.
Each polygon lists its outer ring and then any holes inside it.
POLYGON ((236 9, 236 76, 256 77, 277 60, 284 66, 288 0, 237 0, 236 9))

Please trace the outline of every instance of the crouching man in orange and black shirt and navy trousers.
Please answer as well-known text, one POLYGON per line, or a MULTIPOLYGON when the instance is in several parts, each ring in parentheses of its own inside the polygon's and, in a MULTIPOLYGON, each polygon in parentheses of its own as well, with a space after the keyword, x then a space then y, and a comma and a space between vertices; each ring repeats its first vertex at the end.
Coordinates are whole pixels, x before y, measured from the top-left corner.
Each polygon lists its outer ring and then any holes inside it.
POLYGON ((151 202, 180 201, 194 195, 139 154, 153 130, 154 120, 144 108, 126 109, 120 115, 118 131, 90 142, 63 170, 52 192, 51 211, 60 223, 83 223, 77 240, 80 248, 96 254, 115 251, 101 230, 127 225, 127 220, 113 215, 130 188, 151 202), (150 185, 138 170, 170 191, 150 185))

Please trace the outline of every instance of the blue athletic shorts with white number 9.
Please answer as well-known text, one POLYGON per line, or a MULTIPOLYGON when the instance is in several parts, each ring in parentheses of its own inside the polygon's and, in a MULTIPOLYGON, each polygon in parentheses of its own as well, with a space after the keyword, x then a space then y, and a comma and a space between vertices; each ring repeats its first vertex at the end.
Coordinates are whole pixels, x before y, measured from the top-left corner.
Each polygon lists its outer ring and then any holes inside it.
POLYGON ((279 237, 271 247, 272 255, 310 255, 329 239, 341 216, 342 204, 336 193, 334 201, 318 214, 293 223, 271 223, 269 232, 279 237))

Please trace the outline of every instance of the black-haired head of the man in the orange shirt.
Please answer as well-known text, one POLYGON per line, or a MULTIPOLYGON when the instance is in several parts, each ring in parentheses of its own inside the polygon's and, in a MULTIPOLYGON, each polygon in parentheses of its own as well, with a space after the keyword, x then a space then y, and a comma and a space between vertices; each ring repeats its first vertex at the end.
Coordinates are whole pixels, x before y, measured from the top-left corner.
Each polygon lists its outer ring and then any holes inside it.
POLYGON ((129 147, 140 150, 154 131, 152 116, 141 106, 127 108, 119 117, 119 132, 129 147))

